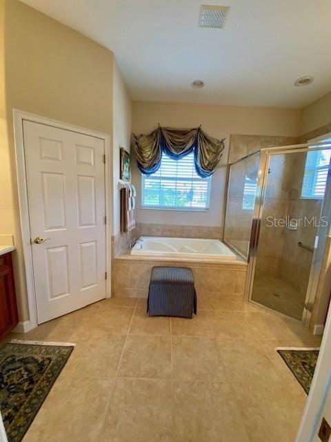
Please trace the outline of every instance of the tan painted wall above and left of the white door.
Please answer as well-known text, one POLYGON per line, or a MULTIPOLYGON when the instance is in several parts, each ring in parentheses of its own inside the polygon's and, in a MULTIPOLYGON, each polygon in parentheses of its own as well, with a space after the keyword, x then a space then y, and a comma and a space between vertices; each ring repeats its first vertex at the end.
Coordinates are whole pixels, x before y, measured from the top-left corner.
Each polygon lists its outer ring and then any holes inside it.
MULTIPOLYGON (((8 127, 8 140, 1 139, 0 232, 14 233, 19 317, 27 320, 12 108, 112 136, 113 55, 17 0, 0 0, 0 6, 6 16, 1 33, 5 34, 8 127)), ((6 124, 1 126, 2 133, 6 135, 6 124)))

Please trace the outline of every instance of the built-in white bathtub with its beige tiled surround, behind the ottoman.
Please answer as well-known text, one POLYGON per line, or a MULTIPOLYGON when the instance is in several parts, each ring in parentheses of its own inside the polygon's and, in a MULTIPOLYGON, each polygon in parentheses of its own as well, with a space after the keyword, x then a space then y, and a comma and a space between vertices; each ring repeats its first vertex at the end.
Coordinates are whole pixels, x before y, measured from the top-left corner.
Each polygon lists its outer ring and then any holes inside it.
POLYGON ((114 257, 112 295, 147 298, 154 266, 190 268, 200 306, 204 297, 243 300, 247 262, 223 242, 156 236, 141 236, 131 250, 114 257))

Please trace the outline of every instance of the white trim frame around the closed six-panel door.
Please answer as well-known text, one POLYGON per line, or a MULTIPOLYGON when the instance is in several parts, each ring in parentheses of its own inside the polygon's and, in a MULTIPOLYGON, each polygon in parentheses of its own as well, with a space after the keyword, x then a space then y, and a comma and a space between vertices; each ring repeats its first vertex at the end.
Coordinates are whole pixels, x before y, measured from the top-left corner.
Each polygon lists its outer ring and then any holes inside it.
POLYGON ((112 206, 110 204, 112 183, 112 155, 110 135, 90 129, 75 126, 74 124, 68 124, 59 122, 56 119, 50 119, 41 117, 40 115, 34 115, 32 113, 19 111, 13 109, 13 121, 14 121, 14 144, 17 166, 17 183, 19 189, 19 212, 21 220, 21 233, 23 242, 23 256, 24 267, 26 269, 26 289, 28 293, 28 309, 29 309, 29 321, 23 323, 22 331, 28 332, 29 330, 37 327, 37 304, 34 289, 34 275, 32 266, 32 247, 30 238, 30 218, 29 218, 29 206, 28 206, 28 184, 26 181, 26 160, 24 152, 24 139, 23 139, 23 122, 29 121, 54 128, 64 129, 66 131, 77 132, 83 135, 90 135, 91 137, 99 138, 105 143, 105 155, 106 155, 106 167, 105 167, 105 209, 106 209, 106 298, 111 296, 111 222, 112 222, 112 206))

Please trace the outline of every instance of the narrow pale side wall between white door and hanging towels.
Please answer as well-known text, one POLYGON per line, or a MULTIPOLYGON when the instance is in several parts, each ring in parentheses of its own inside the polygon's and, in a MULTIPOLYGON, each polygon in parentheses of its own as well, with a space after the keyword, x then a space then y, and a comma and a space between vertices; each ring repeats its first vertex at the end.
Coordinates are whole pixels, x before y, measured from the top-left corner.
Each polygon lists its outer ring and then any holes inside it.
MULTIPOLYGON (((130 152, 132 102, 126 84, 124 83, 116 61, 113 70, 113 220, 112 235, 120 231, 120 201, 119 201, 119 149, 123 147, 130 152)), ((133 160, 133 159, 132 159, 133 160)))

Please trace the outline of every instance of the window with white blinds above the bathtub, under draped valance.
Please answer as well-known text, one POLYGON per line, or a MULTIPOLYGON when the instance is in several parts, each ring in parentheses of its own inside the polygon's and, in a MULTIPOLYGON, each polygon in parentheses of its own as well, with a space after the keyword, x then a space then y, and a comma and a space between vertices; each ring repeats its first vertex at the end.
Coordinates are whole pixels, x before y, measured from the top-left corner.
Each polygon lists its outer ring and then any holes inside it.
POLYGON ((147 209, 207 210, 211 180, 197 175, 194 153, 178 161, 163 153, 160 169, 143 175, 141 205, 147 209))

